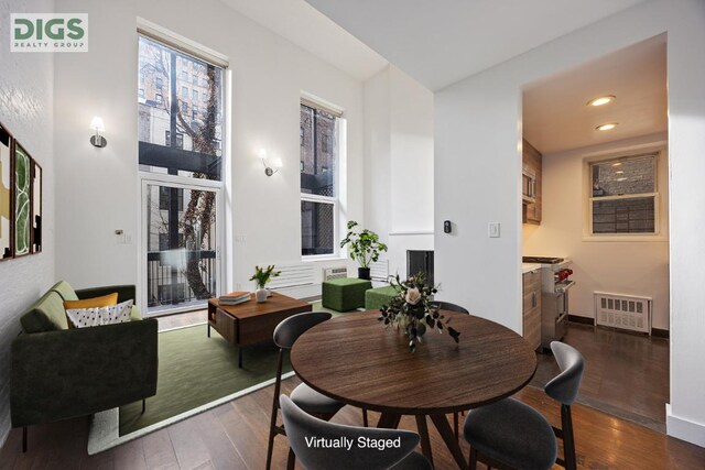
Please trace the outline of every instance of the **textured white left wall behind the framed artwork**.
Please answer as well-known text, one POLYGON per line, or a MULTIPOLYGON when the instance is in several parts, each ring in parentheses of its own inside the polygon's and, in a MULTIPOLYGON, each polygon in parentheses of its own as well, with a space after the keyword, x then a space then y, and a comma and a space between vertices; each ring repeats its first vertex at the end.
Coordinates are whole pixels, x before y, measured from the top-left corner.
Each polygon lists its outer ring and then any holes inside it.
POLYGON ((0 447, 10 431, 10 345, 20 315, 54 281, 54 54, 11 53, 10 13, 51 12, 51 0, 0 0, 0 122, 42 166, 42 253, 0 262, 0 447))

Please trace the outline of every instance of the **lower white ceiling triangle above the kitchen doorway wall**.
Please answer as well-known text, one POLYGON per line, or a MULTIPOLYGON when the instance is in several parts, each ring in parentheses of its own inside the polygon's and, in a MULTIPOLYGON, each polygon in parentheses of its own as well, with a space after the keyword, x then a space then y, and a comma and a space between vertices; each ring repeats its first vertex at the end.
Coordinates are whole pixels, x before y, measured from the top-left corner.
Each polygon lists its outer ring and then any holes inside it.
POLYGON ((307 1, 435 91, 643 0, 307 1))

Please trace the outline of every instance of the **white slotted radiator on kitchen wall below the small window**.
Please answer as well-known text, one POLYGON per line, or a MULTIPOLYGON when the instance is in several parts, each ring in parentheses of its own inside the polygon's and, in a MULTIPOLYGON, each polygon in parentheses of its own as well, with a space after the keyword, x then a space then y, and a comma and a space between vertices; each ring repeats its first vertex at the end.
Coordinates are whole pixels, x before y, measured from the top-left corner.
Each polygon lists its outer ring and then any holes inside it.
POLYGON ((595 323, 651 334, 653 299, 633 295, 595 293, 595 323))

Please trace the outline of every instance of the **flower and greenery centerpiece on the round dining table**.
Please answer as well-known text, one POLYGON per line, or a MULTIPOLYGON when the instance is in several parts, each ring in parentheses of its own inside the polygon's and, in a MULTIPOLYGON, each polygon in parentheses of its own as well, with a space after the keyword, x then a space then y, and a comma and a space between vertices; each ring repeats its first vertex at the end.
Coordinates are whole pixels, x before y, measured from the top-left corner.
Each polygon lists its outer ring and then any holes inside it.
POLYGON ((416 342, 423 342, 423 336, 429 328, 435 328, 438 332, 443 332, 445 328, 451 338, 459 342, 460 332, 449 327, 451 319, 446 319, 445 315, 433 305, 432 296, 438 289, 426 285, 424 281, 423 273, 404 282, 400 281, 398 274, 392 278, 391 285, 398 288, 399 295, 393 297, 389 305, 380 308, 379 320, 383 321, 386 327, 393 325, 397 329, 404 331, 409 338, 411 352, 416 350, 416 342))

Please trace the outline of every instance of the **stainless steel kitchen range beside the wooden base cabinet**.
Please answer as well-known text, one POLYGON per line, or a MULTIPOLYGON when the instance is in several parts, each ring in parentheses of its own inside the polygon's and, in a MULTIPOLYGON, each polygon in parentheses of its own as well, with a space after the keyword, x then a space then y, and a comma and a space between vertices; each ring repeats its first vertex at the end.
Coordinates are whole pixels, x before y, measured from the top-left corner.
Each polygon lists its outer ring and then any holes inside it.
POLYGON ((568 328, 568 291, 575 285, 571 260, 524 256, 523 262, 541 264, 541 347, 550 348, 568 328))

